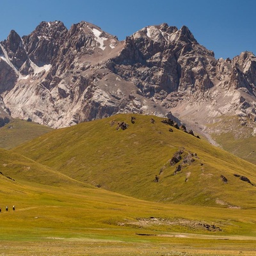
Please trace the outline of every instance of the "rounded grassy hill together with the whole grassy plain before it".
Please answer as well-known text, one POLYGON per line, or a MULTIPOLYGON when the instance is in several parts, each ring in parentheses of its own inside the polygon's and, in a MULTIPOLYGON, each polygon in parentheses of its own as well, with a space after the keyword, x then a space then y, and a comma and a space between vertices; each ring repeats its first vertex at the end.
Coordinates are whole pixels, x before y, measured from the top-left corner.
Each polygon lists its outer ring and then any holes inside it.
POLYGON ((0 150, 0 255, 255 255, 256 187, 233 175, 254 184, 255 166, 150 118, 117 115, 0 150), (181 147, 198 158, 172 175, 181 147))

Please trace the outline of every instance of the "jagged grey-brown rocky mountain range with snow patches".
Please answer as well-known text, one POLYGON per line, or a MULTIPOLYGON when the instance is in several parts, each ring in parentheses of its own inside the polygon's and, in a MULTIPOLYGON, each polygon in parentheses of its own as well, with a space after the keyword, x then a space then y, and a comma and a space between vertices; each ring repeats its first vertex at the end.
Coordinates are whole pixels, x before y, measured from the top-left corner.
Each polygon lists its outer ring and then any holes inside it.
POLYGON ((132 112, 176 116, 206 136, 214 120, 237 116, 256 132, 255 93, 252 52, 216 60, 186 26, 119 41, 88 22, 41 22, 0 42, 1 116, 54 128, 132 112))

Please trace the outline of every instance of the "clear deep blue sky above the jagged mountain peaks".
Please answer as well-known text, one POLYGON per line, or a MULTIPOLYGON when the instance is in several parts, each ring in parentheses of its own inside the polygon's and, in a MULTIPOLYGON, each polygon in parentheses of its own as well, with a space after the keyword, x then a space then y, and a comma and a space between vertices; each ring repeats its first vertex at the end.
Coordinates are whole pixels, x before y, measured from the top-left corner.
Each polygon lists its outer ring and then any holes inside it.
POLYGON ((12 29, 29 35, 41 21, 61 20, 69 29, 84 20, 119 40, 166 22, 188 26, 216 58, 256 54, 256 0, 0 0, 0 8, 0 41, 12 29))

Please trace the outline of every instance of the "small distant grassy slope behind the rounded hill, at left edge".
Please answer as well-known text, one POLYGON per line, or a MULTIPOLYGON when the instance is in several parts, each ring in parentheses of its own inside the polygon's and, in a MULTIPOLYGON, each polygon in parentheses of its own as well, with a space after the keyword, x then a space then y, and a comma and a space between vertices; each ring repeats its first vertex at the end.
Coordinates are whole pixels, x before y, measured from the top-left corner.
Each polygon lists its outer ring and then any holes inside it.
POLYGON ((0 148, 10 149, 52 131, 50 127, 13 119, 0 128, 0 148))

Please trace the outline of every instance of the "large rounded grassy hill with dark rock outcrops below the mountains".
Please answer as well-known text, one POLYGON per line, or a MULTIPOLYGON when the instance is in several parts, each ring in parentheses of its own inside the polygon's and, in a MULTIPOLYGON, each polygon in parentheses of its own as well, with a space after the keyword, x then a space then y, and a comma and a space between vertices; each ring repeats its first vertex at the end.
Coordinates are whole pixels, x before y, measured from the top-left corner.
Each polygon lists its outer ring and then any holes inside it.
POLYGON ((255 208, 255 165, 186 132, 173 127, 170 132, 163 118, 134 116, 134 124, 131 115, 116 115, 53 131, 15 152, 72 179, 143 200, 255 208), (116 130, 118 122, 129 127, 116 130), (180 149, 182 159, 172 166, 170 159, 180 149))

